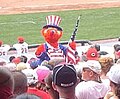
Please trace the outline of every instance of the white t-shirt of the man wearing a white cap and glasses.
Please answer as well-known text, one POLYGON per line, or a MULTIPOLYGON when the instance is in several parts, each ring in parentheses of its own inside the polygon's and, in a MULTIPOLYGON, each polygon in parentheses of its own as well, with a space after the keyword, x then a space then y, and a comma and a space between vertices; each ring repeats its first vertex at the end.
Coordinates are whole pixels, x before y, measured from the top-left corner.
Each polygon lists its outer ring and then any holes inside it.
POLYGON ((80 82, 75 89, 78 99, 99 99, 108 92, 109 86, 95 81, 80 82))

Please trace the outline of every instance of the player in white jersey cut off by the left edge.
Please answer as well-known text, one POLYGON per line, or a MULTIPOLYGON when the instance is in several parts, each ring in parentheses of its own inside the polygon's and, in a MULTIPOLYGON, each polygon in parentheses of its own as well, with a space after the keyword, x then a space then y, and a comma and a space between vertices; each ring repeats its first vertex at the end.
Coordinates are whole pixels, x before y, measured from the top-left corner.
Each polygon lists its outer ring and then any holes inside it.
POLYGON ((10 46, 8 44, 3 44, 3 41, 0 40, 0 58, 6 60, 9 49, 10 49, 10 46))

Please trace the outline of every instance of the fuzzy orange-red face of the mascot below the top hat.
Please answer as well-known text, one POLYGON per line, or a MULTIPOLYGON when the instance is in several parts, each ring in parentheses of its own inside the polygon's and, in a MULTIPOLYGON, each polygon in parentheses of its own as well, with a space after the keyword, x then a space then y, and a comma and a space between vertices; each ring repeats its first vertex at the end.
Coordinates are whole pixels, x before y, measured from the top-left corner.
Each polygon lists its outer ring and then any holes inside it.
POLYGON ((63 32, 54 27, 43 28, 41 33, 48 43, 56 43, 61 38, 63 32))

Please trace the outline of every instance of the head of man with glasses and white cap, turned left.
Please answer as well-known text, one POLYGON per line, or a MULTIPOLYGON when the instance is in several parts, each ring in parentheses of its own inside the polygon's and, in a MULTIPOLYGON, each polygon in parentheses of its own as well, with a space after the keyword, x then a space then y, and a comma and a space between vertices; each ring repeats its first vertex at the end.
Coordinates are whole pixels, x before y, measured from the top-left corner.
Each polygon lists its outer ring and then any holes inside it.
POLYGON ((85 65, 83 65, 82 69, 82 80, 84 81, 97 81, 101 82, 100 80, 101 74, 101 65, 96 60, 88 60, 85 65))

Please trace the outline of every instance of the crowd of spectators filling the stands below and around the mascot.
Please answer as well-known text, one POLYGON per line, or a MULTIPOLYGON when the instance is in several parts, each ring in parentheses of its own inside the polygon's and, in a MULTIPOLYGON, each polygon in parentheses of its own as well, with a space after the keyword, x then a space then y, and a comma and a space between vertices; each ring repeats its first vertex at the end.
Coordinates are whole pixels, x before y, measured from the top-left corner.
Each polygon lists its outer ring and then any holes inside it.
MULTIPOLYGON (((19 37, 14 46, 24 41, 19 37)), ((2 47, 0 41, 5 54, 2 47)), ((27 57, 26 43, 16 50, 9 62, 0 58, 0 99, 120 99, 119 44, 114 45, 114 59, 101 55, 100 46, 91 46, 77 65, 56 59, 39 66, 36 58, 27 57)))

